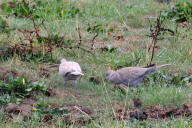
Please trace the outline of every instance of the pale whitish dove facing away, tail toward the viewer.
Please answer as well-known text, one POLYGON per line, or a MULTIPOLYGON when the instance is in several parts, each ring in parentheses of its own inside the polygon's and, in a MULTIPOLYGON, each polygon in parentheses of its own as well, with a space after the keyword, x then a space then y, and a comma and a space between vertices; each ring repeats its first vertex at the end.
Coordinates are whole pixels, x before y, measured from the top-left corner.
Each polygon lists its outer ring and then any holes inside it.
POLYGON ((62 59, 59 65, 59 75, 64 78, 64 82, 74 80, 74 86, 76 87, 78 78, 84 74, 77 62, 62 59))

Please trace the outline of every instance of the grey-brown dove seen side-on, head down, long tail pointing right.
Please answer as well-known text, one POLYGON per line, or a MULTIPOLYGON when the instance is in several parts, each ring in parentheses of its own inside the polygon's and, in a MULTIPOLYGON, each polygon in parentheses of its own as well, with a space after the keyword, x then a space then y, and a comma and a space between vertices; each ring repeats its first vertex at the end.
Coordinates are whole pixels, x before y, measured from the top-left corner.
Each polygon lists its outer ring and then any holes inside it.
POLYGON ((105 79, 114 84, 124 84, 126 86, 134 86, 141 83, 146 75, 156 71, 157 69, 168 66, 164 64, 160 66, 152 66, 147 68, 142 67, 125 67, 117 71, 108 70, 105 74, 105 79))

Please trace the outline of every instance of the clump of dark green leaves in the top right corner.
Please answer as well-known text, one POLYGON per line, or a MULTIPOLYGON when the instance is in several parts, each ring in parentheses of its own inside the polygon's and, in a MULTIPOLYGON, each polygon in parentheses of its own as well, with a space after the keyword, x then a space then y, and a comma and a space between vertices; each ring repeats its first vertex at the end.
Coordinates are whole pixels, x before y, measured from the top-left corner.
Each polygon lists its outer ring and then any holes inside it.
POLYGON ((168 10, 164 10, 163 16, 178 23, 185 21, 192 22, 192 2, 178 2, 168 10))

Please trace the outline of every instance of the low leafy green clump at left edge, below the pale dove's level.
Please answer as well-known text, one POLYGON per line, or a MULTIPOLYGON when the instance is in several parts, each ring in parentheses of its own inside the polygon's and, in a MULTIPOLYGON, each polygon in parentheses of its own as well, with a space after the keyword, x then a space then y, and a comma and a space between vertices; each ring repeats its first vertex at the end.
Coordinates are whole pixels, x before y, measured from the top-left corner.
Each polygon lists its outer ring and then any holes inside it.
POLYGON ((0 104, 20 102, 22 98, 30 97, 34 91, 46 92, 47 87, 44 82, 32 82, 20 76, 14 78, 12 75, 6 81, 0 81, 0 104))

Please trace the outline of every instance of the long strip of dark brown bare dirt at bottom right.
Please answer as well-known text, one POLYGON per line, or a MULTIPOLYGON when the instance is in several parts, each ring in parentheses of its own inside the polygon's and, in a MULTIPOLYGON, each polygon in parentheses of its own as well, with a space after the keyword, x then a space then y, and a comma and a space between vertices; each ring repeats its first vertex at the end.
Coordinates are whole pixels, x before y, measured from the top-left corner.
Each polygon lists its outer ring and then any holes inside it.
POLYGON ((118 108, 115 113, 115 119, 119 120, 146 120, 146 119, 166 119, 178 116, 192 117, 192 105, 183 106, 148 106, 142 109, 124 109, 118 108))

